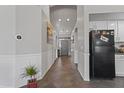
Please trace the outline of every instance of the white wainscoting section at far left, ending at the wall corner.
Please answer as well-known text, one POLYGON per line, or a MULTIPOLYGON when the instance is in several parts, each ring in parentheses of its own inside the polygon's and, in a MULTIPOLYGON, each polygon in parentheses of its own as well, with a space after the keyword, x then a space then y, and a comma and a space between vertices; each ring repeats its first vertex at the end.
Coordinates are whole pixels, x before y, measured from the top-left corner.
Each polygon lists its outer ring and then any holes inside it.
POLYGON ((14 87, 15 55, 0 55, 0 87, 14 87))

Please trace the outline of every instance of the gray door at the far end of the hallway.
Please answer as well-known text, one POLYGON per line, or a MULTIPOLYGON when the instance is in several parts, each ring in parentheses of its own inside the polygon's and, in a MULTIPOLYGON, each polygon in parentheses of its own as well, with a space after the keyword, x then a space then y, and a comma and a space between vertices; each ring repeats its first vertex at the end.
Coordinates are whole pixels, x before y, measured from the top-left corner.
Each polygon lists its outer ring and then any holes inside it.
POLYGON ((68 40, 61 40, 61 56, 68 56, 68 40))

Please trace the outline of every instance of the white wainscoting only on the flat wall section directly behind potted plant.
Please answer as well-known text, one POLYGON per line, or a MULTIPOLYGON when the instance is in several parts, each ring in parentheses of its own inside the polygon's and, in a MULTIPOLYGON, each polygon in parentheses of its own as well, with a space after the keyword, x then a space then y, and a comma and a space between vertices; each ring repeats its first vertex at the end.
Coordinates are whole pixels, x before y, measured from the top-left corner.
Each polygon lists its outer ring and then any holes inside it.
POLYGON ((37 77, 40 79, 42 75, 41 54, 24 54, 16 55, 15 61, 15 87, 21 87, 27 83, 27 78, 22 78, 24 68, 28 65, 36 65, 38 67, 37 77))

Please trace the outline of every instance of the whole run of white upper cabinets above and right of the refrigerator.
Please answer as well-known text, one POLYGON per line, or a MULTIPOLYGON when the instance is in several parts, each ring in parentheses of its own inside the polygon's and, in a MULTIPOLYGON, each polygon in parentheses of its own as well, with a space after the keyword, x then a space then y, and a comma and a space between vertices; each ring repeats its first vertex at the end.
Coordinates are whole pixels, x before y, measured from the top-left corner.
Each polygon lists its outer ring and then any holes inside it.
POLYGON ((91 21, 90 30, 114 30, 115 42, 124 42, 124 21, 91 21))

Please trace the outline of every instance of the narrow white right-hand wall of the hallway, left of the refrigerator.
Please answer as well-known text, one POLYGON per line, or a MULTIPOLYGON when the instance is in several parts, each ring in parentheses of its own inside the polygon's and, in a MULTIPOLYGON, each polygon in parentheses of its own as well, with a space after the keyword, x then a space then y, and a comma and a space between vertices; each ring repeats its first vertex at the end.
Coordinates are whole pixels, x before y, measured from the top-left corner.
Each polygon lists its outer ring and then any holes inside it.
POLYGON ((78 70, 84 80, 85 74, 85 47, 84 47, 84 6, 77 6, 77 28, 78 28, 78 70))

